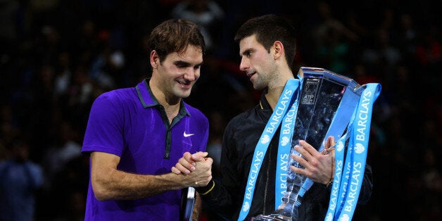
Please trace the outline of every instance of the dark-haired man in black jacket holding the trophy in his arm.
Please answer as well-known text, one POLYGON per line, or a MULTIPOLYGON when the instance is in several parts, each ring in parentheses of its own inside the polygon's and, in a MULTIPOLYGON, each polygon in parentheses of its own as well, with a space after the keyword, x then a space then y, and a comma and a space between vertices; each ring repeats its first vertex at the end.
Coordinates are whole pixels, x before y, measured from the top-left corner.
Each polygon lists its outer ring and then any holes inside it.
MULTIPOLYGON (((246 73, 256 90, 263 90, 260 103, 244 113, 232 118, 225 129, 222 141, 220 168, 221 181, 212 180, 206 187, 196 190, 215 213, 226 220, 239 220, 248 189, 248 177, 255 160, 255 148, 269 121, 286 82, 294 78, 293 60, 296 51, 295 30, 284 19, 276 15, 263 15, 252 18, 236 32, 235 41, 239 42, 241 64, 239 68, 246 73)), ((280 127, 279 127, 280 129, 280 127)), ((267 146, 262 165, 255 177, 253 200, 246 220, 257 215, 275 212, 275 179, 277 170, 277 151, 279 129, 267 146)), ((334 144, 334 138, 327 139, 326 149, 334 144)), ((305 175, 315 183, 303 196, 298 208, 298 220, 324 220, 334 174, 334 151, 324 155, 305 141, 300 141, 299 153, 308 154, 301 163, 305 168, 291 168, 293 172, 305 175)), ((190 172, 191 163, 204 160, 201 153, 185 153, 172 172, 190 172)), ((293 156, 292 156, 293 158, 293 156)), ((296 158, 293 158, 296 160, 296 158)), ((372 169, 366 165, 365 174, 358 198, 365 204, 372 194, 372 169)), ((242 218, 240 218, 242 220, 242 218)))

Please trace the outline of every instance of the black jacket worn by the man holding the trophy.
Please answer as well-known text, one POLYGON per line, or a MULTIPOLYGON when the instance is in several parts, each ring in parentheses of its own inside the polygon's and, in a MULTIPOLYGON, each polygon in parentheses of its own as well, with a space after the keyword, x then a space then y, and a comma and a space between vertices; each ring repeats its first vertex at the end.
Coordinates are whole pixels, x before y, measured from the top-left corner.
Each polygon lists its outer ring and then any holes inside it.
MULTIPOLYGON (((220 161, 222 180, 215 180, 215 187, 202 197, 204 203, 226 220, 238 219, 255 146, 270 115, 272 109, 263 94, 258 106, 234 117, 225 129, 220 161)), ((248 218, 274 212, 278 141, 279 130, 274 134, 261 165, 248 218)), ((198 193, 205 193, 212 186, 209 184, 208 187, 198 188, 198 193)), ((324 220, 329 206, 330 191, 331 187, 326 188, 324 184, 313 184, 303 197, 303 203, 298 210, 299 220, 324 220)), ((371 194, 372 168, 366 165, 358 203, 367 203, 371 194)))

